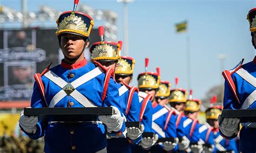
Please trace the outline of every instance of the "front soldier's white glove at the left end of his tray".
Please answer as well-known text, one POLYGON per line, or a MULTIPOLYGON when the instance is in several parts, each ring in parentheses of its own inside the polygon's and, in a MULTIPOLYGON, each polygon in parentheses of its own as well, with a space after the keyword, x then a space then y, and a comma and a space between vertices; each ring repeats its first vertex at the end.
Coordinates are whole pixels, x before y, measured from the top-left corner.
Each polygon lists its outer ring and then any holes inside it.
POLYGON ((30 134, 36 133, 36 123, 38 122, 37 116, 24 116, 24 110, 21 112, 21 116, 19 117, 19 125, 30 134))

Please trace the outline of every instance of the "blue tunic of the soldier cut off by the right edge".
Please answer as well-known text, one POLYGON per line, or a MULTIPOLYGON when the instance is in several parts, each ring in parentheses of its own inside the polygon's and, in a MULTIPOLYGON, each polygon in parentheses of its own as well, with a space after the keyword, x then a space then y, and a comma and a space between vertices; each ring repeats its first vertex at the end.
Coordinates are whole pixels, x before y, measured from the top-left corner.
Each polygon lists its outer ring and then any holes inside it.
MULTIPOLYGON (((255 109, 256 108, 256 57, 251 62, 242 66, 236 66, 231 71, 231 78, 234 82, 236 93, 240 103, 235 99, 230 86, 225 81, 224 91, 224 109, 255 109)), ((254 123, 251 127, 245 127, 248 123, 242 123, 243 127, 240 130, 240 151, 242 152, 256 152, 256 126, 254 123)), ((221 133, 221 135, 223 135, 221 133)), ((225 136, 226 137, 226 136, 225 136)), ((226 137, 232 139, 236 137, 226 137)))

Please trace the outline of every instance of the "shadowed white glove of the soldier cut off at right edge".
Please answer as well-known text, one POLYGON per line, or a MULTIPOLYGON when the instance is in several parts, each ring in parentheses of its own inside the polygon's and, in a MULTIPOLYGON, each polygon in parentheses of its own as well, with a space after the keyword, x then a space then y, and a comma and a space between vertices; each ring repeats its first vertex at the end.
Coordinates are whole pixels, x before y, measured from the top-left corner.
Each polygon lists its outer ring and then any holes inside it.
POLYGON ((223 118, 221 115, 218 117, 219 120, 219 129, 220 131, 227 137, 231 137, 233 135, 237 135, 239 128, 238 124, 240 123, 240 119, 237 117, 225 117, 223 118))

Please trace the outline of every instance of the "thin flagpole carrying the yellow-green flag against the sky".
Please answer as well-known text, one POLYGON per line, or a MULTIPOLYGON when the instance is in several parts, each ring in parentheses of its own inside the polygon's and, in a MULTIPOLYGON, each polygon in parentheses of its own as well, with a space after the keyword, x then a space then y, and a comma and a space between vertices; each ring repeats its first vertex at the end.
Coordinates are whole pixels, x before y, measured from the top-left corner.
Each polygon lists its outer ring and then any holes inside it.
MULTIPOLYGON (((188 29, 188 28, 187 28, 188 29)), ((186 52, 187 52, 187 87, 191 89, 191 55, 190 55, 190 35, 187 30, 186 36, 186 52)))

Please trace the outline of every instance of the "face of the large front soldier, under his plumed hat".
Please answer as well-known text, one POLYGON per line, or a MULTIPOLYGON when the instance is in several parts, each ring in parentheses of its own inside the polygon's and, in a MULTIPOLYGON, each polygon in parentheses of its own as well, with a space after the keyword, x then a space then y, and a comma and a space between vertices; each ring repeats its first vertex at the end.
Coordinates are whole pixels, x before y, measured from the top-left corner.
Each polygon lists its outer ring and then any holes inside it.
MULTIPOLYGON (((61 46, 63 54, 70 58, 76 58, 82 51, 85 45, 85 41, 82 36, 76 34, 64 33, 61 36, 61 46)), ((86 44, 86 47, 89 43, 86 44)), ((82 56, 84 58, 84 56, 82 56)))

